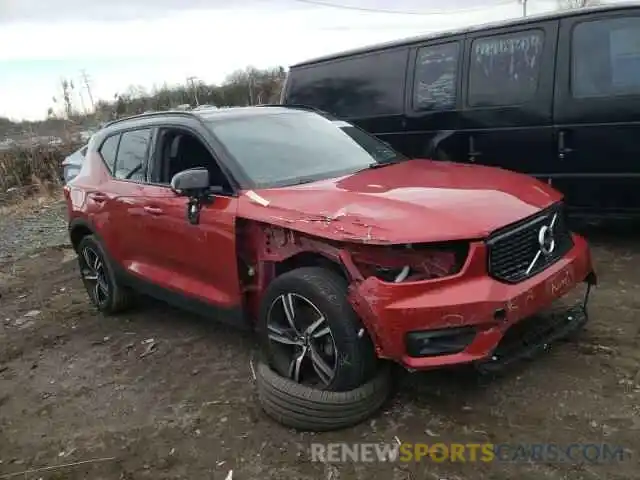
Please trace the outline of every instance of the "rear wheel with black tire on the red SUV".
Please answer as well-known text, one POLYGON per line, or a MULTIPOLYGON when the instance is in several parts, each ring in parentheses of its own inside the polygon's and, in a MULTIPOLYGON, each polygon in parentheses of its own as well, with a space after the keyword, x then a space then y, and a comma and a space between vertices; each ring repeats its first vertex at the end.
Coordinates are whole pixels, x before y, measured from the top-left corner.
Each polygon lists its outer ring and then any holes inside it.
POLYGON ((80 241, 78 245, 78 264, 82 282, 87 289, 89 299, 98 310, 110 315, 120 313, 131 306, 133 292, 117 279, 108 255, 106 255, 104 248, 93 235, 87 235, 80 241), (89 254, 89 251, 91 254, 89 254), (100 281, 89 279, 91 277, 91 275, 88 275, 88 273, 91 273, 89 270, 94 272, 95 268, 93 266, 90 269, 88 268, 87 256, 93 259, 93 254, 101 264, 100 271, 95 275, 100 281))

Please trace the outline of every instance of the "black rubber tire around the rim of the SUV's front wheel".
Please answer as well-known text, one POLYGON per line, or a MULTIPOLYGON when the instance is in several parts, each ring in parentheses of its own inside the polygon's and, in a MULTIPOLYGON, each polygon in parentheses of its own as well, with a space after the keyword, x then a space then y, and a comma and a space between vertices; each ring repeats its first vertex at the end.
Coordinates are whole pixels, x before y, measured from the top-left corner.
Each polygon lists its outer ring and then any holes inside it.
MULTIPOLYGON (((347 288, 347 281, 343 277, 322 267, 302 267, 291 270, 271 282, 262 299, 257 330, 267 361, 276 372, 282 376, 288 376, 288 370, 292 364, 291 358, 297 355, 295 348, 298 347, 292 347, 289 350, 288 346, 282 347, 270 340, 268 319, 278 299, 294 295, 310 302, 311 306, 317 309, 320 316, 326 320, 329 335, 333 341, 334 355, 331 360, 333 375, 330 381, 325 378, 324 382, 316 382, 316 388, 331 391, 352 390, 366 383, 374 375, 378 366, 375 349, 366 329, 347 299, 347 288), (289 351, 291 351, 291 357, 287 358, 289 351)), ((327 329, 323 328, 323 330, 327 329)), ((294 332, 293 335, 296 333, 298 332, 294 332)), ((310 357, 313 355, 310 354, 310 357)), ((312 367, 315 368, 317 364, 312 363, 312 367)), ((311 371, 309 367, 307 368, 311 371)), ((317 372, 316 369, 315 373, 317 372)), ((318 378, 320 378, 319 375, 318 378)), ((306 383, 302 378, 299 380, 306 383)), ((312 382, 310 384, 313 385, 312 382)))

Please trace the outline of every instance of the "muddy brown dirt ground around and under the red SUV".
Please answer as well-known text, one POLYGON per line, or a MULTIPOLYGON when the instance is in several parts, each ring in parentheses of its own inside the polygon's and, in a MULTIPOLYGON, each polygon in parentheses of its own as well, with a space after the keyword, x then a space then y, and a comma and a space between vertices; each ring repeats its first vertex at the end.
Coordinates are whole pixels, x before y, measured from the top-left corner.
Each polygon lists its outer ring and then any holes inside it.
POLYGON ((640 478, 640 233, 587 233, 600 285, 578 340, 499 379, 405 374, 375 418, 326 434, 295 432, 262 413, 251 335, 151 301, 105 318, 89 305, 69 248, 6 254, 0 260, 0 479, 226 479, 230 470, 234 480, 640 478), (396 437, 606 442, 624 446, 627 459, 310 461, 311 442, 396 437))

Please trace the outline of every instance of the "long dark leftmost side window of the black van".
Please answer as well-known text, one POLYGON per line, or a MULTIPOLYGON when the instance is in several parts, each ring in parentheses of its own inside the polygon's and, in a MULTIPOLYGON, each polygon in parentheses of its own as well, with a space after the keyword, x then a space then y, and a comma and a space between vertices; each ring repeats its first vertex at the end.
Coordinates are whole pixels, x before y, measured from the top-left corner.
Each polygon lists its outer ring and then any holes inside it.
POLYGON ((408 49, 372 53, 291 70, 284 103, 341 118, 400 114, 408 54, 408 49))

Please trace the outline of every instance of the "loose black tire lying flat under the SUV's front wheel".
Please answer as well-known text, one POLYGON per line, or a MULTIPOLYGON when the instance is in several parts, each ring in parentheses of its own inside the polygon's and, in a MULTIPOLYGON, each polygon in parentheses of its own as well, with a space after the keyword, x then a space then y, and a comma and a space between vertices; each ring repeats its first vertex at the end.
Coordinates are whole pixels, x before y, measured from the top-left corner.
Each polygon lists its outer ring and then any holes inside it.
POLYGON ((287 427, 307 431, 329 431, 356 425, 376 413, 391 392, 390 368, 347 392, 330 392, 301 385, 258 363, 258 400, 264 412, 287 427))

